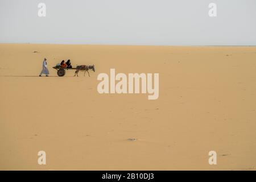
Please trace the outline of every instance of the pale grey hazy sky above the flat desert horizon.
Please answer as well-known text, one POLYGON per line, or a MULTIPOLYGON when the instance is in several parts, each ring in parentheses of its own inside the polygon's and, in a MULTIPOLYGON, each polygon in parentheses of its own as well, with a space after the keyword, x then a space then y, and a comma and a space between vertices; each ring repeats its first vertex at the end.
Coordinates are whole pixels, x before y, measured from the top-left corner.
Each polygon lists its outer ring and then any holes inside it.
POLYGON ((0 0, 0 43, 256 45, 256 0, 0 0))

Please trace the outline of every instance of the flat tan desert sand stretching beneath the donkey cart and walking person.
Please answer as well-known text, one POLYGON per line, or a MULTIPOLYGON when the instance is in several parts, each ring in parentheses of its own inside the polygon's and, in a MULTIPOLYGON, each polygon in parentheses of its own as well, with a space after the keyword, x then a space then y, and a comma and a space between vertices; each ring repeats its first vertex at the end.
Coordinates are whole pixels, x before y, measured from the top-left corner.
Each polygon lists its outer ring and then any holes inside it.
POLYGON ((256 47, 0 44, 0 169, 255 170, 255 82, 256 47), (96 73, 58 77, 63 59, 96 73), (158 100, 99 94, 110 68, 159 73, 158 100))

